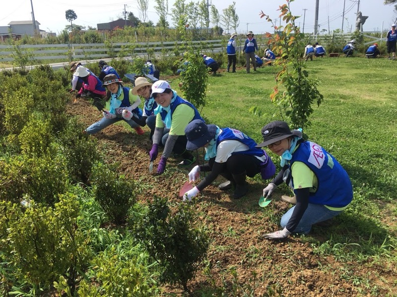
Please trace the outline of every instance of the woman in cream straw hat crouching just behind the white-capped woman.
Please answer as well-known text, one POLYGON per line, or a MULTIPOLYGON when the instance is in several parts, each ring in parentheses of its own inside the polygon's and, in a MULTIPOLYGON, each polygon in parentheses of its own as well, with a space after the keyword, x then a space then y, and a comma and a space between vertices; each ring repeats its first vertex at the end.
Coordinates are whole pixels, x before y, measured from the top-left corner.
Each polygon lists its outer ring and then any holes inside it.
MULTIPOLYGON (((154 128, 156 127, 156 116, 154 115, 154 110, 157 108, 157 103, 152 96, 151 86, 153 84, 149 82, 145 77, 137 77, 135 79, 135 86, 132 88, 132 94, 138 95, 145 99, 145 104, 143 106, 142 118, 132 118, 142 127, 147 125, 150 128, 149 139, 152 140, 154 134, 154 128)), ((164 128, 163 135, 168 133, 170 130, 164 128)))

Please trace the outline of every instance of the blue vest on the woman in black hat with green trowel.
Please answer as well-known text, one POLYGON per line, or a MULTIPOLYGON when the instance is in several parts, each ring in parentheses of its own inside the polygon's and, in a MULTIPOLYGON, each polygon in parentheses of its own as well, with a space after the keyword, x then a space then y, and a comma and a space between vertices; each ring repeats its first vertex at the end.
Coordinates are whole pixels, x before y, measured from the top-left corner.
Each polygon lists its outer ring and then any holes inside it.
MULTIPOLYGON (((290 170, 296 161, 307 165, 318 180, 317 191, 310 193, 309 203, 344 207, 351 202, 353 189, 350 178, 343 167, 324 148, 314 142, 304 141, 292 154, 289 162, 290 170)), ((291 174, 290 178, 293 185, 291 174)))

